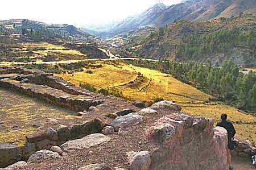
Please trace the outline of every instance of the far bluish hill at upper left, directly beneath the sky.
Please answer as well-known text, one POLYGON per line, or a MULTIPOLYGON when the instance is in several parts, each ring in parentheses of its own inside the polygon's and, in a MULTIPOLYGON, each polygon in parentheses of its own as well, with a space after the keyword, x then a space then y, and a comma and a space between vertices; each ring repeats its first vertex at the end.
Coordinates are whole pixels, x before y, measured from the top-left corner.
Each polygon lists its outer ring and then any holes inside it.
MULTIPOLYGON (((88 40, 92 35, 68 24, 48 24, 28 19, 0 20, 0 27, 7 34, 22 34, 30 40, 88 40)), ((1 33, 1 32, 0 32, 1 33)))

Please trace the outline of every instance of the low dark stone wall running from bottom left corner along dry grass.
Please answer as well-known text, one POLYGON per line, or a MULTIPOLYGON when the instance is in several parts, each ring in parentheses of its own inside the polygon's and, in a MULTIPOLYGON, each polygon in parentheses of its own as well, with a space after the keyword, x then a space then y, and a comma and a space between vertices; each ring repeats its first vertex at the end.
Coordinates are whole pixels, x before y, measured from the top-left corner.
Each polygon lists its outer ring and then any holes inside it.
POLYGON ((7 165, 20 160, 27 160, 36 151, 49 150, 52 146, 60 146, 68 140, 101 132, 104 126, 105 123, 96 118, 81 125, 73 125, 72 127, 59 125, 56 129, 49 127, 47 131, 27 135, 25 146, 0 143, 0 167, 7 167, 7 165))

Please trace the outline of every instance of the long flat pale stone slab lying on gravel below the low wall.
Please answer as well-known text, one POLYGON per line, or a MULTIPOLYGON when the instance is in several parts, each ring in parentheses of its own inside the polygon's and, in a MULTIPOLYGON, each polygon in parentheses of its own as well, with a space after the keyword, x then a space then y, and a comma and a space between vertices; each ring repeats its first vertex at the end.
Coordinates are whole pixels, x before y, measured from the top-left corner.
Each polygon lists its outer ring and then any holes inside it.
POLYGON ((102 143, 109 142, 110 138, 104 134, 90 134, 81 139, 69 140, 61 145, 61 149, 64 151, 69 150, 81 150, 83 148, 90 148, 102 143))

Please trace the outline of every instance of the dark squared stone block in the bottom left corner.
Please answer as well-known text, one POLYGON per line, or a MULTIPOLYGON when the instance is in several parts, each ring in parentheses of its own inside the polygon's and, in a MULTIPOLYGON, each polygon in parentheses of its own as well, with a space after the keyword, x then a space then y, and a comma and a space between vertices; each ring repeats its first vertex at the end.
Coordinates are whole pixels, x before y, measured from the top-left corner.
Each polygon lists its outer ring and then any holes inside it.
POLYGON ((6 167, 22 160, 22 147, 0 142, 0 167, 6 167))

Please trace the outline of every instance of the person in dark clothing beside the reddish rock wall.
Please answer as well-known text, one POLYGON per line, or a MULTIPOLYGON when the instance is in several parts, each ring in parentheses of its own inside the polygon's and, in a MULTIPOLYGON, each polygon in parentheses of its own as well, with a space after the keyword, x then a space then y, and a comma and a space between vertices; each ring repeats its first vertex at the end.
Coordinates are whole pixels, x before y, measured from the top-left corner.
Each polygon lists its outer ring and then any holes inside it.
POLYGON ((236 147, 236 144, 233 143, 232 138, 234 138, 234 135, 236 134, 236 130, 234 129, 234 126, 232 123, 228 122, 226 119, 228 118, 228 115, 221 114, 221 122, 218 122, 216 126, 220 126, 226 129, 228 131, 228 165, 229 169, 234 169, 232 167, 232 158, 230 154, 230 150, 234 150, 236 147))

